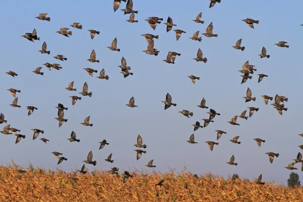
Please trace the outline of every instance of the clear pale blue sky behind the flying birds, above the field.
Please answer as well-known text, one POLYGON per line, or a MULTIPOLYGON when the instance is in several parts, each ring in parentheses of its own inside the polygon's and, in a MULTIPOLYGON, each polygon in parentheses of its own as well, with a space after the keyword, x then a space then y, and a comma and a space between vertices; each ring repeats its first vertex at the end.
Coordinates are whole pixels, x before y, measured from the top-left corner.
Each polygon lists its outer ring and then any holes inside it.
MULTIPOLYGON (((14 160, 18 165, 28 165, 55 168, 58 159, 52 151, 59 151, 68 158, 60 166, 70 171, 80 168, 86 160, 90 150, 93 159, 97 161, 96 169, 109 170, 115 166, 121 170, 133 167, 146 168, 144 165, 154 159, 155 170, 166 172, 169 167, 181 171, 184 164, 188 171, 197 174, 211 172, 227 177, 237 173, 241 177, 252 179, 263 174, 269 181, 286 183, 289 170, 284 167, 294 159, 300 151, 297 145, 303 143, 302 137, 297 134, 303 132, 301 128, 302 94, 299 81, 303 70, 300 68, 303 24, 301 19, 302 2, 288 4, 279 0, 273 2, 249 0, 225 1, 209 9, 210 1, 154 1, 153 5, 133 0, 134 10, 139 13, 135 19, 139 23, 128 23, 129 15, 122 11, 113 12, 113 1, 48 1, 38 4, 28 4, 24 1, 5 1, 2 4, 0 17, 3 31, 1 32, 1 112, 4 113, 8 124, 21 130, 25 139, 15 144, 15 136, 0 135, 0 163, 10 163, 14 160), (154 6, 154 7, 153 7, 154 6), (192 22, 198 13, 202 12, 205 24, 192 22), (48 13, 51 22, 40 21, 34 17, 39 13, 48 13), (158 16, 173 19, 182 33, 176 41, 174 31, 166 32, 166 26, 161 23, 156 30, 151 29, 146 17, 158 16), (242 19, 252 18, 260 20, 255 29, 248 27, 242 19), (73 22, 79 22, 82 30, 70 27, 73 22), (218 38, 208 38, 205 33, 207 26, 213 22, 214 33, 218 38), (61 27, 69 27, 72 31, 70 38, 56 33, 61 27), (20 37, 26 32, 37 30, 40 41, 30 42, 20 37), (93 40, 90 39, 88 29, 100 31, 93 40), (203 41, 193 41, 189 37, 195 31, 200 31, 203 41), (142 51, 146 50, 147 42, 141 34, 151 33, 159 35, 155 39, 155 48, 160 54, 150 56, 142 51), (106 48, 117 37, 118 48, 121 52, 113 52, 106 48), (232 48, 235 42, 242 38, 245 51, 232 48), (281 48, 274 43, 287 41, 289 48, 281 48), (50 55, 41 55, 38 50, 42 43, 47 43, 50 55), (260 59, 262 47, 267 48, 269 59, 260 59), (192 60, 196 57, 198 48, 203 51, 208 62, 197 63, 192 60), (96 58, 100 63, 90 63, 92 49, 95 49, 96 58), (176 64, 163 62, 168 51, 181 54, 176 64), (53 57, 64 55, 66 62, 58 61, 53 57), (120 73, 121 58, 124 57, 131 66, 133 76, 126 79, 120 73), (240 85, 241 77, 237 70, 249 60, 258 69, 252 80, 240 85), (43 63, 59 63, 61 71, 49 71, 43 63), (43 67, 43 76, 32 71, 43 67), (110 79, 100 80, 90 77, 83 68, 105 69, 110 79), (5 72, 12 70, 18 73, 13 78, 5 72), (257 74, 267 74, 267 78, 258 83, 257 74), (199 76, 200 80, 193 85, 188 75, 199 76), (77 92, 67 91, 65 87, 74 81, 77 92), (71 105, 71 95, 80 95, 83 83, 87 82, 92 97, 82 96, 75 106, 71 105), (242 98, 249 87, 252 95, 257 97, 256 102, 245 103, 242 98), (14 97, 6 89, 20 89, 17 93, 21 109, 9 106, 14 97), (177 107, 164 111, 166 93, 172 95, 177 107), (289 98, 285 106, 287 112, 280 116, 272 106, 266 106, 261 95, 285 95, 289 98), (138 108, 125 106, 130 97, 134 96, 138 108), (186 142, 193 133, 192 124, 195 121, 208 118, 208 110, 196 107, 201 99, 206 98, 206 104, 215 109, 221 116, 214 119, 208 127, 194 132, 198 144, 186 142), (55 107, 58 103, 68 107, 65 118, 68 122, 58 128, 55 107), (35 106, 37 111, 27 116, 26 106, 35 106), (258 107, 259 112, 247 121, 238 119, 240 126, 227 123, 231 117, 240 115, 247 107, 258 107), (179 114, 178 111, 189 110, 194 113, 190 119, 179 114), (80 123, 90 116, 93 127, 85 127, 80 123), (32 140, 33 131, 38 128, 45 131, 35 140, 32 140), (219 145, 210 151, 205 141, 216 141, 215 130, 227 131, 219 145), (69 142, 72 131, 81 141, 69 142), (137 135, 147 144, 147 154, 136 161, 133 149, 136 147, 137 135), (228 141, 239 135, 240 145, 228 141), (44 144, 39 138, 49 139, 44 144), (266 142, 259 147, 253 138, 262 138, 266 142), (102 150, 98 150, 99 141, 107 139, 110 143, 102 150), (269 163, 264 153, 273 151, 279 153, 273 164, 269 163), (113 153, 115 162, 110 164, 104 161, 113 153), (235 156, 238 166, 230 166, 230 157, 235 156)), ((121 3, 120 9, 125 8, 121 3)), ((175 28, 175 27, 174 27, 175 28)), ((2 124, 1 127, 6 126, 2 124)), ((94 168, 86 165, 89 171, 94 168)), ((295 165, 297 173, 303 179, 300 165, 295 165)), ((148 168, 147 168, 148 169, 148 168)))

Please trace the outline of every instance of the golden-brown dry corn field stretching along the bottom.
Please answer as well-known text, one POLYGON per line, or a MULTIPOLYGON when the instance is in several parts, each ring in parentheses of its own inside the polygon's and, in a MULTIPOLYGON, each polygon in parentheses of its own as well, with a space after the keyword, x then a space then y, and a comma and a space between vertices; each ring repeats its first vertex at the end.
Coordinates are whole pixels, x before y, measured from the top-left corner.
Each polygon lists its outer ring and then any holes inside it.
POLYGON ((186 171, 131 172, 134 177, 123 184, 123 175, 107 171, 77 174, 78 180, 72 180, 62 170, 29 168, 20 176, 18 169, 0 167, 1 201, 303 201, 300 187, 258 185, 210 174, 196 178, 186 171), (161 179, 163 186, 155 186, 161 179))

